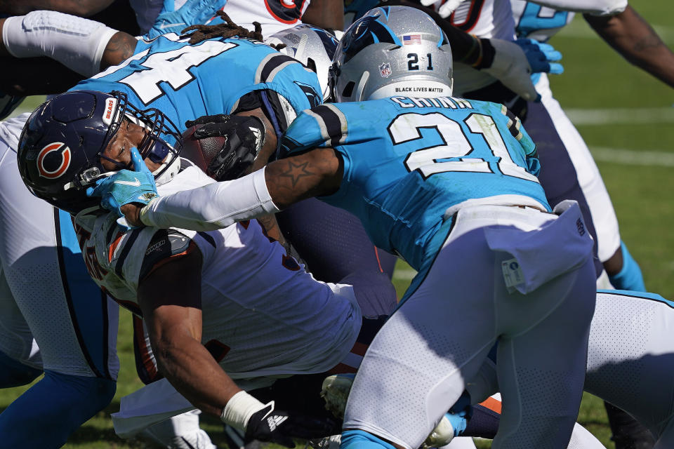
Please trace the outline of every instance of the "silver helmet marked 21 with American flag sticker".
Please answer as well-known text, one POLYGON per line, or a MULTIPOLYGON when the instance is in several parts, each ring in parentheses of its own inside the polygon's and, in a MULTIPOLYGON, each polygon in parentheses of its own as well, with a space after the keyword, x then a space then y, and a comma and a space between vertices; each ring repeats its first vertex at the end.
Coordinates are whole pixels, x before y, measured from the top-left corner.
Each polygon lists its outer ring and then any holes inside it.
POLYGON ((451 95, 447 36, 423 11, 381 6, 346 30, 330 71, 333 99, 376 100, 393 95, 451 95))

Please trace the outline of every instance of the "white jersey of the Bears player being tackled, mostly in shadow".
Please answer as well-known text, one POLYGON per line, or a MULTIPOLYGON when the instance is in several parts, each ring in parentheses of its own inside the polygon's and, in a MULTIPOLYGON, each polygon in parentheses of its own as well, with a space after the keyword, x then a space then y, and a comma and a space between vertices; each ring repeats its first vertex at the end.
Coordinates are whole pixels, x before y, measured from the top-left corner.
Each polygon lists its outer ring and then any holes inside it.
MULTIPOLYGON (((159 194, 210 182, 190 167, 159 186, 159 194)), ((116 218, 114 213, 76 217, 93 279, 140 314, 136 290, 143 277, 194 242, 203 256, 202 343, 232 378, 322 373, 355 343, 362 317, 352 288, 316 281, 258 222, 214 232, 150 227, 124 232, 116 218)))

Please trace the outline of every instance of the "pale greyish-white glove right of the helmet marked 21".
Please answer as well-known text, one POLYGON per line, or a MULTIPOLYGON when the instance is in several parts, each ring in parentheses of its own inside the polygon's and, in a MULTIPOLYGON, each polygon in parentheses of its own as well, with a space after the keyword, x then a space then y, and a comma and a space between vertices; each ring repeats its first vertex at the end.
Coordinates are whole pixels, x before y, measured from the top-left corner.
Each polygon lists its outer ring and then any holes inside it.
POLYGON ((489 39, 494 47, 494 61, 490 67, 482 67, 511 91, 527 101, 535 101, 540 95, 531 82, 531 66, 522 48, 511 41, 489 39))

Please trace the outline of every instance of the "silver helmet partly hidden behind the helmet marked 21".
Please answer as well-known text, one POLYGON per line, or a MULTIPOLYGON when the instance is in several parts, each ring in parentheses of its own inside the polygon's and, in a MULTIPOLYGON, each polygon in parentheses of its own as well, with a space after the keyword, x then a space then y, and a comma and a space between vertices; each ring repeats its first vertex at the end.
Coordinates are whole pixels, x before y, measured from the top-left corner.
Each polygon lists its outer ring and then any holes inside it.
POLYGON ((297 25, 284 29, 265 39, 267 45, 284 43, 281 53, 295 58, 316 72, 323 91, 323 100, 330 95, 328 71, 337 48, 335 36, 312 25, 297 25))

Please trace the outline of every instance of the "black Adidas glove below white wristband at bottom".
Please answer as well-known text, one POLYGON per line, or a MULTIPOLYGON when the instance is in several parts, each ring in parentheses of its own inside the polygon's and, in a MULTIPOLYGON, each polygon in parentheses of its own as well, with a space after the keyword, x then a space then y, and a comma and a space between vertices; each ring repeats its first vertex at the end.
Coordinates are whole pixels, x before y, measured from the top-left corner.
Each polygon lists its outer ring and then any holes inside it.
POLYGON ((272 441, 294 448, 293 438, 323 438, 339 432, 340 427, 334 420, 275 410, 271 401, 251 416, 246 426, 246 440, 272 441))

